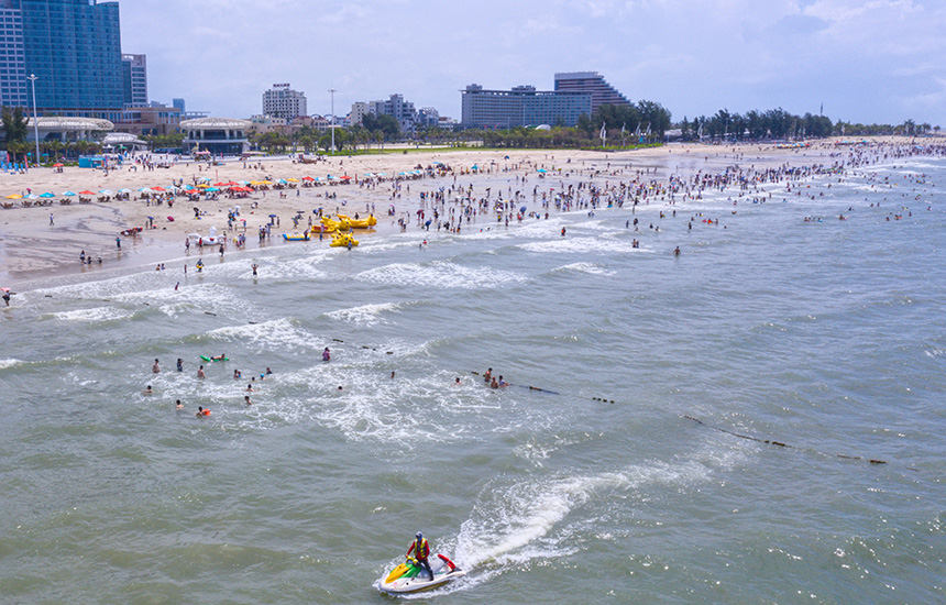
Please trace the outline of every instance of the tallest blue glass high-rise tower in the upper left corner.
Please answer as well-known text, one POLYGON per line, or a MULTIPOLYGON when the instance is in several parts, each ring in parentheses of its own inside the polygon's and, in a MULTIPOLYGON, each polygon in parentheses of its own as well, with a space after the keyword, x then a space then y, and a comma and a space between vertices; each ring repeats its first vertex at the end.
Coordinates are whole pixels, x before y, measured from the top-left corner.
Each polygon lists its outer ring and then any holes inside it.
POLYGON ((122 107, 118 2, 0 0, 0 102, 32 105, 26 76, 35 74, 40 108, 122 107))

